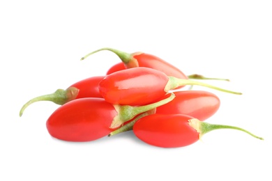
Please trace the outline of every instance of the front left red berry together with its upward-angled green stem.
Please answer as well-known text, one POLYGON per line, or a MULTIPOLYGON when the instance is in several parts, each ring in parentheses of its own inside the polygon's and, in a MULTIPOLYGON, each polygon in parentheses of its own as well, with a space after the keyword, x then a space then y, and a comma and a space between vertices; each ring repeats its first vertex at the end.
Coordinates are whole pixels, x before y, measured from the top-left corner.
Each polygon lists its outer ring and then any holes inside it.
POLYGON ((165 100, 142 107, 110 104, 103 98, 94 97, 72 100, 52 113, 47 119, 47 130, 54 138, 64 141, 93 141, 173 99, 174 94, 171 94, 165 100))

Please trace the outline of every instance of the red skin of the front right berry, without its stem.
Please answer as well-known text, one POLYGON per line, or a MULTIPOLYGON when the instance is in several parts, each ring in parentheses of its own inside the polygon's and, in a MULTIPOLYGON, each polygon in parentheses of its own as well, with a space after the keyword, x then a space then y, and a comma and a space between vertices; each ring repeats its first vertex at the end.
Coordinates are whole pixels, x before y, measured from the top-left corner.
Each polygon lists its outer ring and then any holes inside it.
POLYGON ((152 114, 137 120, 133 132, 140 140, 162 148, 177 148, 199 140, 199 133, 190 125, 192 116, 152 114))

